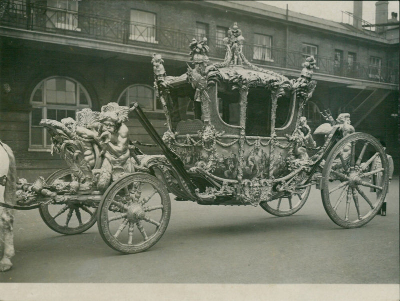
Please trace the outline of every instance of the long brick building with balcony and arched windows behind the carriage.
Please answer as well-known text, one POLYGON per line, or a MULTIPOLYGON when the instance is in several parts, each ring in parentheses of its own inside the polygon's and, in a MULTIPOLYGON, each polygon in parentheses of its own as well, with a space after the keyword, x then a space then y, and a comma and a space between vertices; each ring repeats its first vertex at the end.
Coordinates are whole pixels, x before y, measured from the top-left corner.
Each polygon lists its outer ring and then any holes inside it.
MULTIPOLYGON (((376 4, 387 15, 387 1, 376 4)), ((222 38, 234 22, 245 56, 258 66, 294 78, 305 56, 316 57, 318 85, 304 112, 311 127, 320 110, 349 111, 355 129, 385 140, 398 162, 396 16, 387 20, 391 27, 366 30, 255 1, 6 0, 0 9, 0 138, 15 152, 19 176, 31 180, 64 166, 49 154, 41 118, 138 100, 162 134, 152 53, 162 55, 168 75, 180 75, 188 43, 205 35, 210 60, 222 61, 222 38)), ((192 118, 190 102, 183 114, 192 118)), ((151 142, 134 117, 128 126, 131 140, 151 142)))

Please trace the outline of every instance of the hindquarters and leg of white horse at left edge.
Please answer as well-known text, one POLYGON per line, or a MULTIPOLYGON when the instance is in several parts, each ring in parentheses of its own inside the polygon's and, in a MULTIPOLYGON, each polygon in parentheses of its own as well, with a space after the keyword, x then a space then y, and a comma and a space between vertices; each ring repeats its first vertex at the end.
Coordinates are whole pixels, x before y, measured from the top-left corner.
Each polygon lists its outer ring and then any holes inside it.
MULTIPOLYGON (((0 140, 0 202, 15 205, 15 158, 8 145, 0 140)), ((11 269, 14 256, 12 210, 0 206, 0 272, 11 269)))

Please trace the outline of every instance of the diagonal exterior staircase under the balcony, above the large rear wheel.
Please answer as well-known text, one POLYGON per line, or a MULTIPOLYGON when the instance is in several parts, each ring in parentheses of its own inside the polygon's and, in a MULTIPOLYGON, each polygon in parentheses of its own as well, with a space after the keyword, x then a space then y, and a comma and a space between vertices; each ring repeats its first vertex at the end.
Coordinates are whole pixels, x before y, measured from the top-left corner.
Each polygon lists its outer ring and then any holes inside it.
POLYGON ((350 113, 351 123, 357 127, 389 94, 386 89, 363 89, 339 113, 350 113))

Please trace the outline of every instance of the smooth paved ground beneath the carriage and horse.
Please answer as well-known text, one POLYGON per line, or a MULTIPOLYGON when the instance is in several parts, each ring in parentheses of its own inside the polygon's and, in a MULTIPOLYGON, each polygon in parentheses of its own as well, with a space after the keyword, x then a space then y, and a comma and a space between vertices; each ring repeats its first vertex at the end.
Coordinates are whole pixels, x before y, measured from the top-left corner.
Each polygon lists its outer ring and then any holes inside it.
POLYGON ((107 247, 96 226, 63 236, 36 210, 16 211, 14 267, 0 282, 399 284, 398 192, 395 179, 387 216, 358 229, 331 222, 314 188, 290 217, 172 200, 163 237, 134 255, 107 247))

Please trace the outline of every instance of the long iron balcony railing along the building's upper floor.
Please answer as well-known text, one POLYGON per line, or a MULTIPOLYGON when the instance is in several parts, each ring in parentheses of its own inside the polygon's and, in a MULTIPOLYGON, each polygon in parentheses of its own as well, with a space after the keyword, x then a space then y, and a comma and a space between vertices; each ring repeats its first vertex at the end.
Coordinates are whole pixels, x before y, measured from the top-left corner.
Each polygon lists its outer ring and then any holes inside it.
MULTIPOLYGON (((9 0, 0 18, 0 25, 60 35, 107 40, 122 44, 142 44, 156 51, 168 49, 187 53, 194 31, 152 26, 89 13, 57 9, 23 0, 9 0)), ((199 38, 199 37, 196 37, 199 38)), ((223 58, 225 48, 221 40, 207 36, 209 56, 223 58)), ((252 63, 264 66, 301 69, 308 56, 299 51, 245 43, 243 54, 252 63)), ((376 66, 348 63, 317 55, 316 72, 385 83, 398 83, 398 66, 376 66)))

